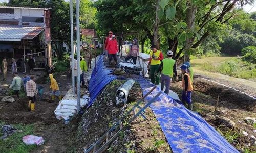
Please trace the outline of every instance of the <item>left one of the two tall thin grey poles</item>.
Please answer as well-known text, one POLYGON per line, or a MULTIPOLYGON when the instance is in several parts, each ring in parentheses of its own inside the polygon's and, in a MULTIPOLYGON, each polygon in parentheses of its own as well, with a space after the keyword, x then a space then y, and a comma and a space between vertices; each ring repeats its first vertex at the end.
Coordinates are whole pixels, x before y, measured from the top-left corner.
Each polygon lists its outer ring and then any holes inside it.
POLYGON ((70 0, 70 34, 71 34, 71 67, 72 67, 72 89, 75 94, 75 73, 74 73, 74 23, 73 23, 73 1, 70 0))

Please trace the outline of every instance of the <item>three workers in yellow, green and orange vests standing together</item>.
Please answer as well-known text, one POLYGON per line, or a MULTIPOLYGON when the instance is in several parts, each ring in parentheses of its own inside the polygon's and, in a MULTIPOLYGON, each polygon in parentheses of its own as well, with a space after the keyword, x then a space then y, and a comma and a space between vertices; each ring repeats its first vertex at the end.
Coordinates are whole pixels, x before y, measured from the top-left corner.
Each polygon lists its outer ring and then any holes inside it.
MULTIPOLYGON (((165 86, 165 91, 167 95, 170 90, 170 83, 172 81, 173 74, 178 80, 177 75, 177 62, 172 59, 173 52, 168 50, 167 58, 163 57, 163 54, 160 50, 156 49, 156 45, 152 45, 150 52, 150 60, 147 68, 150 70, 151 82, 155 85, 159 85, 159 75, 161 74, 161 90, 165 86)), ((182 101, 183 104, 188 104, 188 109, 193 109, 191 92, 193 91, 193 69, 190 66, 190 62, 185 62, 181 65, 181 74, 182 74, 182 101)))

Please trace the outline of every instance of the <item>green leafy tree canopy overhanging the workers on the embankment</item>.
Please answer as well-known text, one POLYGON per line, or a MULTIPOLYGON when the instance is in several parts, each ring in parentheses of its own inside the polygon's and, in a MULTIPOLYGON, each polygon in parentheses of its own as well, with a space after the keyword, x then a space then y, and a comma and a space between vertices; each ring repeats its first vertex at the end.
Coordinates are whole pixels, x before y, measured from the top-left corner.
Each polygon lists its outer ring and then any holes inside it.
MULTIPOLYGON (((246 4, 248 1, 170 1, 160 0, 100 0, 94 5, 98 10, 99 27, 102 30, 114 29, 115 31, 131 32, 133 30, 144 33, 144 36, 153 40, 154 24, 157 12, 159 21, 158 38, 167 40, 168 49, 172 49, 175 58, 178 59, 185 48, 186 40, 189 39, 190 53, 194 52, 209 35, 215 35, 225 28, 227 22, 236 16, 235 6, 246 4), (190 4, 189 4, 190 3, 190 4), (159 9, 156 11, 156 6, 159 9), (188 27, 186 22, 189 5, 196 6, 194 25, 188 27), (108 18, 108 20, 105 20, 108 18)), ((251 25, 245 26, 245 30, 251 25)), ((144 39, 144 37, 141 38, 144 39)), ((164 47, 166 48, 166 47, 164 47)))

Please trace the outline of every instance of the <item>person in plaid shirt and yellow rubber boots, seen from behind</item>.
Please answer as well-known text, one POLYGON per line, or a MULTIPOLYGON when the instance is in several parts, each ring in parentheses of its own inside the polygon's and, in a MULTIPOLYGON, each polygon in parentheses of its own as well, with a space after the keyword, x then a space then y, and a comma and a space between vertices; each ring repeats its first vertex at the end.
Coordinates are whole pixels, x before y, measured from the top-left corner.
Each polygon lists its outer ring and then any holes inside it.
POLYGON ((35 101, 37 95, 36 83, 35 83, 35 76, 31 75, 30 80, 26 83, 26 93, 27 97, 29 98, 29 105, 31 111, 35 111, 35 101))

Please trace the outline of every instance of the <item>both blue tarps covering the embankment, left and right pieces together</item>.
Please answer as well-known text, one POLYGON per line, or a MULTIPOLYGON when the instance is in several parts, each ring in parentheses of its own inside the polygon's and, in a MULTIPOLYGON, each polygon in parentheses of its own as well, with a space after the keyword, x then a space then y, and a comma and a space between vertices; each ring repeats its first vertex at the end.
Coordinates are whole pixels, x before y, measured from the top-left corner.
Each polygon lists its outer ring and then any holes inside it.
MULTIPOLYGON (((89 83, 91 100, 88 107, 102 89, 116 78, 104 67, 101 56, 89 83)), ((142 77, 134 79, 140 83, 143 95, 154 86, 142 77)), ((145 103, 159 92, 162 91, 156 88, 145 98, 145 103)), ((186 109, 165 93, 162 93, 150 107, 173 152, 238 152, 200 115, 186 109)))

